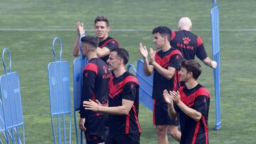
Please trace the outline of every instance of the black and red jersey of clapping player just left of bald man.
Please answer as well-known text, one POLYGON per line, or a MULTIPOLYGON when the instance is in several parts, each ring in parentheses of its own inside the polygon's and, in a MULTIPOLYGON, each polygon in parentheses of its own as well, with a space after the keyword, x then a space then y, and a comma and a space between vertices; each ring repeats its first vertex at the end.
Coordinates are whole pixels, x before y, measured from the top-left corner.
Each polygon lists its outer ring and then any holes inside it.
POLYGON ((164 67, 165 69, 168 69, 168 67, 174 67, 176 69, 176 72, 171 79, 166 79, 166 77, 154 69, 152 98, 156 99, 157 101, 164 102, 164 89, 173 91, 179 88, 180 82, 178 78, 178 71, 180 69, 182 55, 180 51, 175 50, 174 48, 170 48, 166 52, 159 50, 156 52, 155 60, 159 65, 161 65, 161 67, 164 67))

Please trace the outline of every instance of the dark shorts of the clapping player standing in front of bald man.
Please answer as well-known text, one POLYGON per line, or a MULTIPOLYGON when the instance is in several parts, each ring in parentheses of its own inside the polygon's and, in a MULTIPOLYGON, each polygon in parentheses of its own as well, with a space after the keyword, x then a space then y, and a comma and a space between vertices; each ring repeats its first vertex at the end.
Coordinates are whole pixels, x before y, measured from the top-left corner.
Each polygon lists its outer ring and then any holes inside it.
POLYGON ((173 120, 168 116, 168 104, 154 99, 153 124, 156 126, 178 126, 178 116, 173 120))

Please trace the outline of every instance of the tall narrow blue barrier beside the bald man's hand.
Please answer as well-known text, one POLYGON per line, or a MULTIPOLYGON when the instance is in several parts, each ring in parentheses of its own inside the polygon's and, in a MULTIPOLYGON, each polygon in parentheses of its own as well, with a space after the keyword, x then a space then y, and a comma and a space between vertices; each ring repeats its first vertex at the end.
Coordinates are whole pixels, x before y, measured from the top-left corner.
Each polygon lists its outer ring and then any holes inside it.
POLYGON ((220 24, 219 13, 216 0, 212 0, 213 9, 210 10, 211 31, 212 31, 212 45, 213 45, 213 60, 217 62, 217 67, 213 70, 214 88, 215 88, 215 111, 216 121, 215 129, 218 130, 221 127, 220 121, 220 24))

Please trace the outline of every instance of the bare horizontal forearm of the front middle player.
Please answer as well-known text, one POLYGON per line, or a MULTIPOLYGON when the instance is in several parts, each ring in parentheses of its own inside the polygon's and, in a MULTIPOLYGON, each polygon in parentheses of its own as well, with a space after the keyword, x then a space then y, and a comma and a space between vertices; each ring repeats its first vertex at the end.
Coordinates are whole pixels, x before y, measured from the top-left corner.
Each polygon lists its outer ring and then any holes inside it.
POLYGON ((98 112, 108 113, 113 115, 127 115, 129 111, 130 109, 125 108, 125 106, 113 106, 113 107, 100 106, 98 110, 98 112))

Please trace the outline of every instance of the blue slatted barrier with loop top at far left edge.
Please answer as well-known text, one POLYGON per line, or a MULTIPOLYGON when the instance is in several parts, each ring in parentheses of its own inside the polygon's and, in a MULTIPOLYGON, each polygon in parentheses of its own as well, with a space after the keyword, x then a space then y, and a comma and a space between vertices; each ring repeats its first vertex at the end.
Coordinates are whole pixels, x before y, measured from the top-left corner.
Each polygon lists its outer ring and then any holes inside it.
MULTIPOLYGON (((0 76, 0 131, 3 134, 6 143, 25 143, 25 129, 18 72, 11 72, 11 53, 7 48, 4 48, 2 52, 2 61, 4 65, 4 75, 0 76), (6 72, 4 52, 7 52, 9 55, 9 72, 6 72), (20 133, 22 133, 22 137, 20 136, 20 133), (9 138, 11 140, 9 140, 9 138)), ((3 143, 2 140, 0 140, 0 142, 3 143)))

